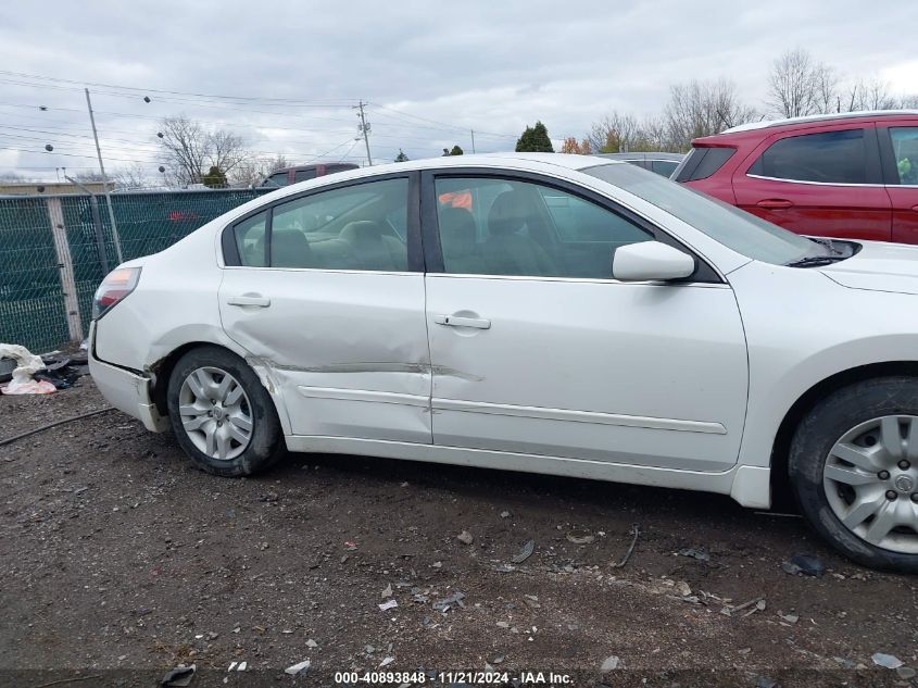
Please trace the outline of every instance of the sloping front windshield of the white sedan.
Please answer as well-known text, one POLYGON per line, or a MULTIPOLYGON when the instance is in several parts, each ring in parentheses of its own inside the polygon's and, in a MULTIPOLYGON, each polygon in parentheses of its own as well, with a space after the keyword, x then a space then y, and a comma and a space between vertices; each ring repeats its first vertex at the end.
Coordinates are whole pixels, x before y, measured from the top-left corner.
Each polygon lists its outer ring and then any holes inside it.
POLYGON ((633 193, 749 258, 787 265, 828 250, 745 211, 633 165, 604 164, 580 172, 633 193))

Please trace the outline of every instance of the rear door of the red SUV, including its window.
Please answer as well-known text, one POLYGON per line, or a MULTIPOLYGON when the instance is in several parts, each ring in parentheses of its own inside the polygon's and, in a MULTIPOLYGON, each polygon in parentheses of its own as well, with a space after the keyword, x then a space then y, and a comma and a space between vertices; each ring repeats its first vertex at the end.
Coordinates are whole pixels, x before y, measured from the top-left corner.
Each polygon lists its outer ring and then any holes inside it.
POLYGON ((733 191, 743 210, 797 234, 891 238, 872 123, 772 135, 737 167, 733 191))

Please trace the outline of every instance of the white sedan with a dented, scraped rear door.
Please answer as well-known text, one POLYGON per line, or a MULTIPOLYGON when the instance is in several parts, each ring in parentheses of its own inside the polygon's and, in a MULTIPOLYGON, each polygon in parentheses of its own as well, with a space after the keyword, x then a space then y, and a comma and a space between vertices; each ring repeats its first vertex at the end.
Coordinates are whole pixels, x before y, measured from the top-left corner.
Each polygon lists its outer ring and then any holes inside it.
POLYGON ((627 163, 465 155, 268 193, 96 295, 102 393, 198 466, 291 451, 790 489, 918 572, 918 249, 806 239, 627 163))

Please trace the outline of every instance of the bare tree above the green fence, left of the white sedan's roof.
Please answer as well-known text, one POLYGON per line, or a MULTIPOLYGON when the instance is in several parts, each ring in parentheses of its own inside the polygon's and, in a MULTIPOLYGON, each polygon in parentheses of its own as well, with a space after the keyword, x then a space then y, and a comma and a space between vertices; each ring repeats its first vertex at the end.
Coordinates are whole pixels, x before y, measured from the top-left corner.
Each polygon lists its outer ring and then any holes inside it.
POLYGON ((209 132, 185 115, 166 117, 160 126, 160 143, 175 183, 198 184, 211 167, 226 174, 251 157, 240 136, 224 129, 209 132))

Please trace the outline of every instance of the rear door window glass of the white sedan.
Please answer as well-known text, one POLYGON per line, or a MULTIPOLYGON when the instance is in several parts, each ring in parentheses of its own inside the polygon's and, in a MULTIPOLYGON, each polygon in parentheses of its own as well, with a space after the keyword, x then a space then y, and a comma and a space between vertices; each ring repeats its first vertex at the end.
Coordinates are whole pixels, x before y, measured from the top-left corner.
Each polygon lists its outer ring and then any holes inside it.
POLYGON ((234 226, 239 263, 249 267, 405 271, 407 197, 408 180, 399 178, 278 203, 234 226))

